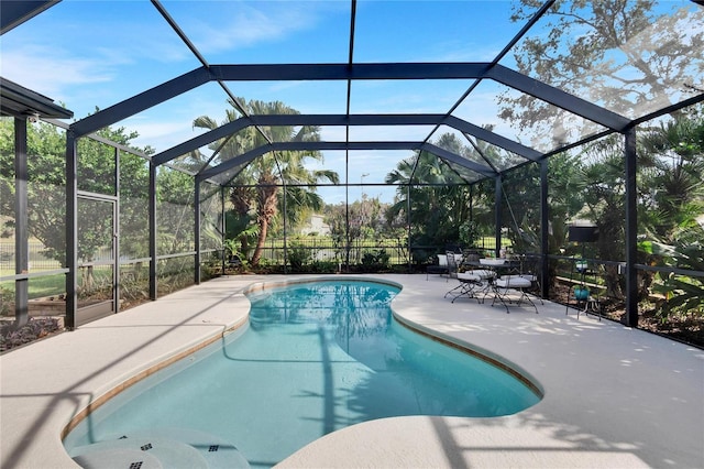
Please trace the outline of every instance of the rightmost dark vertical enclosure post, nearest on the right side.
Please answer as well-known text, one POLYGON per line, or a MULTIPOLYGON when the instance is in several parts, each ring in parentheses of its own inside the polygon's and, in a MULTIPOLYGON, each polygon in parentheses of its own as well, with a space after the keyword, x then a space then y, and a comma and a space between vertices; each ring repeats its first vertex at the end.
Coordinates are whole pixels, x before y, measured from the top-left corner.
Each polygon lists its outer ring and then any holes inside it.
POLYGON ((638 326, 636 128, 624 133, 626 166, 626 326, 638 326))

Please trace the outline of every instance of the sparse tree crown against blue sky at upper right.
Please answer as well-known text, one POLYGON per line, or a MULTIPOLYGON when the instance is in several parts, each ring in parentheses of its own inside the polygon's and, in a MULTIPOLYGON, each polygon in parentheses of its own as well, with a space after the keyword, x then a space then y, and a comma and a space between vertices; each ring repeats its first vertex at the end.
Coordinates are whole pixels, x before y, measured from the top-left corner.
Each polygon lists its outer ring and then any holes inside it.
MULTIPOLYGON (((512 20, 525 21, 541 3, 521 0, 512 20)), ((692 51, 704 43, 704 9, 691 3, 669 12, 656 4, 558 1, 543 17, 544 31, 515 48, 516 68, 626 117, 660 109, 673 96, 698 94, 703 68, 692 51)), ((499 103, 502 118, 532 129, 536 139, 551 135, 553 146, 569 141, 575 128, 575 116, 528 95, 507 91, 499 103)))

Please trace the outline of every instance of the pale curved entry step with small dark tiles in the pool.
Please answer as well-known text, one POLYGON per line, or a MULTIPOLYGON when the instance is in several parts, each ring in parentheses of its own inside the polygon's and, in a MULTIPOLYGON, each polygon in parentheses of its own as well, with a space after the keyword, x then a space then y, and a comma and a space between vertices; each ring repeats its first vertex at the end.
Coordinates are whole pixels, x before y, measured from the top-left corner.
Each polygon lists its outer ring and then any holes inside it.
POLYGON ((74 448, 70 456, 82 468, 249 468, 232 444, 205 432, 162 428, 116 436, 74 448))

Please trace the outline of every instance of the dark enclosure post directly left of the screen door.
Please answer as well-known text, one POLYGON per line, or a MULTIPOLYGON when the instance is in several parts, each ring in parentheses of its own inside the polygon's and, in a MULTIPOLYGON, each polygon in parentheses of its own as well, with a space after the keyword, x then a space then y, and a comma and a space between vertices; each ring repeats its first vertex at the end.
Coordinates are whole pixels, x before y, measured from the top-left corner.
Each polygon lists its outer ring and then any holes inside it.
POLYGON ((77 142, 73 130, 66 132, 66 319, 67 329, 76 327, 76 268, 78 265, 78 172, 77 142))

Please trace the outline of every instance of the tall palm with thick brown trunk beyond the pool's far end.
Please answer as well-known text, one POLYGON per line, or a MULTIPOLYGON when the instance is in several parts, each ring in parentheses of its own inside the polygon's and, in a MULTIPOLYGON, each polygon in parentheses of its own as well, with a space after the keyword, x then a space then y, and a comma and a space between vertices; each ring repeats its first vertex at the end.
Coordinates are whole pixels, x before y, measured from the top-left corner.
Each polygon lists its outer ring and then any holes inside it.
MULTIPOLYGON (((251 100, 242 105, 244 102, 244 99, 238 99, 238 102, 229 100, 233 108, 242 109, 250 116, 297 113, 295 109, 280 101, 251 100)), ((239 113, 234 109, 229 109, 223 123, 237 118, 239 118, 239 113)), ((194 127, 215 129, 217 123, 213 119, 200 117, 194 121, 194 127)), ((299 129, 289 126, 249 127, 230 138, 211 144, 210 148, 219 152, 217 161, 222 162, 270 142, 317 141, 319 140, 318 132, 318 128, 311 126, 304 126, 299 129)), ((322 154, 310 151, 270 152, 253 160, 238 174, 239 185, 233 188, 231 200, 237 201, 235 207, 242 215, 249 198, 249 207, 254 210, 254 222, 257 226, 256 246, 250 261, 252 265, 258 264, 270 227, 279 211, 278 201, 282 186, 286 188, 287 195, 297 196, 294 198, 294 204, 287 204, 287 209, 296 212, 302 207, 311 205, 319 207, 321 205, 320 198, 314 193, 316 183, 324 179, 334 184, 339 183, 338 174, 334 172, 307 170, 305 163, 308 160, 322 161, 322 154), (288 187, 288 184, 294 187, 288 187), (248 187, 253 190, 248 190, 248 187)))

